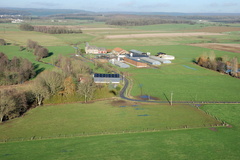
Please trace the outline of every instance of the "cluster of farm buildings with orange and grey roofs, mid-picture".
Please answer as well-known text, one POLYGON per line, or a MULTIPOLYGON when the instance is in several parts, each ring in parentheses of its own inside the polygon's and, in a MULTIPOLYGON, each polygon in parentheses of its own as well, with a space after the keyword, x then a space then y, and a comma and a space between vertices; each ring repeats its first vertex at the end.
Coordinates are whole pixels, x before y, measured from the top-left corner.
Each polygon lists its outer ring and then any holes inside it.
POLYGON ((167 55, 166 53, 159 52, 156 56, 151 56, 151 53, 141 52, 138 50, 124 50, 122 48, 114 48, 113 50, 107 50, 96 46, 90 46, 88 43, 85 47, 86 54, 98 55, 98 58, 104 58, 110 63, 121 67, 129 68, 130 65, 135 67, 149 67, 151 65, 159 66, 161 64, 169 64, 175 57, 167 55))

